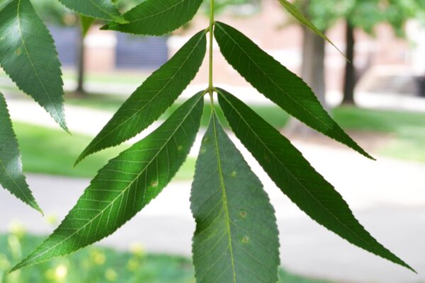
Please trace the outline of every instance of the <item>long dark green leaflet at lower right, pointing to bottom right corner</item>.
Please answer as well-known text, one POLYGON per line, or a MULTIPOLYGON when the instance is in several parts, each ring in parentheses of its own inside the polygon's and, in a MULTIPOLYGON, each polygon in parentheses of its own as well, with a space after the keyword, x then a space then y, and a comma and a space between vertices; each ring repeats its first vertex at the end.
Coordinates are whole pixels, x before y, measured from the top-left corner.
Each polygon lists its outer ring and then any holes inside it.
POLYGON ((242 101, 222 89, 217 91, 220 106, 234 133, 280 190, 302 211, 353 245, 413 270, 370 236, 341 195, 288 139, 242 101))

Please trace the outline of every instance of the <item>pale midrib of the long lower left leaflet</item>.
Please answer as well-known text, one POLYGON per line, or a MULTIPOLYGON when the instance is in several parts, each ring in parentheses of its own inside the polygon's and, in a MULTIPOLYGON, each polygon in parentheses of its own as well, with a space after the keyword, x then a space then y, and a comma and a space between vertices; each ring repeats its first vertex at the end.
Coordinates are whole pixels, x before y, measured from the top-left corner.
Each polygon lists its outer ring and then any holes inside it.
MULTIPOLYGON (((158 157, 158 155, 166 148, 166 145, 169 143, 169 141, 174 137, 174 135, 176 134, 176 132, 180 129, 181 125, 183 125, 183 122, 186 122, 186 119, 192 114, 193 108, 196 108, 196 105, 198 105, 199 100, 203 98, 203 96, 200 96, 200 98, 198 98, 198 100, 196 100, 196 103, 193 103, 193 107, 191 108, 190 111, 188 111, 188 113, 184 116, 184 118, 181 120, 180 124, 178 127, 176 127, 176 129, 174 129, 174 132, 170 135, 170 137, 164 142, 164 146, 162 146, 161 148, 158 149, 157 154, 155 154, 154 157, 152 157, 152 160, 149 161, 149 163, 147 163, 147 165, 145 166, 145 168, 143 168, 143 170, 137 174, 137 177, 134 178, 134 180, 131 181, 131 183, 129 185, 127 185, 127 187, 125 187, 123 189, 123 192, 120 192, 120 194, 115 197, 115 199, 113 199, 111 201, 110 204, 108 204, 105 209, 102 209, 101 211, 99 211, 99 213, 94 216, 91 221, 88 221, 86 224, 84 224, 84 226, 81 226, 80 229, 77 229, 76 231, 74 231, 71 235, 69 235, 67 238, 64 238, 62 241, 60 241, 60 243, 57 243, 56 245, 48 248, 47 250, 45 250, 42 253, 39 253, 38 255, 36 255, 34 258, 31 258, 30 261, 28 262, 33 262, 35 261, 37 258, 42 257, 42 255, 45 255, 46 253, 50 252, 50 250, 56 248, 57 246, 62 245, 62 243, 64 243, 65 241, 68 241, 69 238, 72 238, 75 234, 79 233, 79 231, 81 231, 82 229, 85 229, 86 226, 88 226, 89 224, 93 223, 95 221, 95 219, 98 218, 99 215, 103 214, 104 212, 106 212, 106 209, 108 209, 108 207, 111 206, 111 204, 115 203, 116 200, 118 200, 119 197, 121 197, 121 195, 123 195, 125 192, 127 192, 129 190, 129 188, 132 186, 133 183, 135 183, 136 180, 138 180, 140 178, 140 175, 142 175, 143 173, 145 173, 146 169, 151 165, 152 162, 154 162, 154 160, 156 160, 156 158, 158 157)), ((59 229, 59 228, 58 228, 59 229)), ((27 263, 28 263, 27 262, 27 263)), ((18 269, 19 266, 14 267, 14 269, 18 269)))

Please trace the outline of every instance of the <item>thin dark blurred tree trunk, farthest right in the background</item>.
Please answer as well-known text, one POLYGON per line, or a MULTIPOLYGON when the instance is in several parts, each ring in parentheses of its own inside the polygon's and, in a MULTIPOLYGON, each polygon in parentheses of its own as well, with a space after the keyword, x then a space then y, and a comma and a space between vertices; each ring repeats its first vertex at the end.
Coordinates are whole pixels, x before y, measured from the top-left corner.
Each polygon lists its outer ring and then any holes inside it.
POLYGON ((343 104, 355 104, 354 101, 354 88, 356 87, 356 67, 354 66, 354 47, 356 40, 354 38, 354 27, 346 21, 346 62, 345 73, 344 73, 344 98, 343 104))

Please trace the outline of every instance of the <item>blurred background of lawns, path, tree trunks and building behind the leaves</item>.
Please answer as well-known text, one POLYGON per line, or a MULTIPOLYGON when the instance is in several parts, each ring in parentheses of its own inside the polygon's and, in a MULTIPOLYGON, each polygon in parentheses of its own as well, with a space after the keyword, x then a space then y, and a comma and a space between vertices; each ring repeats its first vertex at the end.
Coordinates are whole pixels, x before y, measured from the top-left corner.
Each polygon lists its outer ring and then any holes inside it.
MULTIPOLYGON (((215 85, 249 103, 288 136, 335 185, 366 229, 419 272, 415 275, 355 248, 309 219, 231 135, 259 173, 276 209, 280 282, 425 282, 425 1, 295 1, 346 57, 296 23, 278 0, 215 1, 217 19, 241 30, 302 76, 336 122, 378 161, 307 129, 273 106, 225 62, 217 45, 215 85)), ((0 8, 7 2, 0 0, 0 8)), ((120 0, 118 5, 128 11, 140 2, 120 0)), ((199 139, 162 195, 113 236, 69 258, 5 275, 55 229, 109 158, 146 136, 176 109, 128 144, 95 154, 72 168, 79 153, 137 86, 191 35, 208 26, 205 1, 191 23, 165 37, 101 31, 98 22, 84 37, 79 18, 58 1, 33 0, 33 4, 57 45, 72 136, 58 129, 0 69, 0 89, 8 99, 23 168, 46 214, 43 219, 0 190, 0 283, 195 282, 190 260, 195 224, 188 198, 199 139)), ((206 88, 206 63, 177 105, 206 88)), ((208 107, 199 137, 208 123, 208 107)))

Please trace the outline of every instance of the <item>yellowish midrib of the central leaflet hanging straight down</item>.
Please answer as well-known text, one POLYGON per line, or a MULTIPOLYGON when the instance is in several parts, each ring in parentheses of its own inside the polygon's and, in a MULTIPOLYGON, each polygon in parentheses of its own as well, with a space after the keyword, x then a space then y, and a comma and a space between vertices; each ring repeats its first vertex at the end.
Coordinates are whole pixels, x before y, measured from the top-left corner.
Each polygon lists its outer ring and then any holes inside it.
POLYGON ((225 186, 225 180, 222 173, 222 165, 221 165, 221 158, 220 158, 220 149, 218 146, 218 139, 217 139, 217 129, 215 125, 215 112, 212 112, 212 125, 214 129, 214 139, 215 139, 215 150, 216 150, 216 156, 217 156, 217 166, 218 166, 218 175, 220 178, 220 186, 222 187, 222 202, 223 202, 223 209, 225 212, 226 217, 226 229, 227 229, 227 236, 228 236, 228 245, 229 245, 229 251, 230 251, 230 260, 232 262, 232 273, 233 273, 233 283, 236 283, 236 271, 235 271, 235 260, 233 255, 233 243, 232 243, 232 232, 230 229, 230 216, 229 216, 229 207, 227 204, 227 193, 226 193, 226 186, 225 186))

